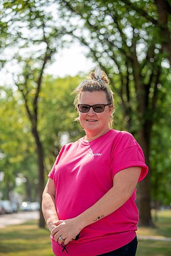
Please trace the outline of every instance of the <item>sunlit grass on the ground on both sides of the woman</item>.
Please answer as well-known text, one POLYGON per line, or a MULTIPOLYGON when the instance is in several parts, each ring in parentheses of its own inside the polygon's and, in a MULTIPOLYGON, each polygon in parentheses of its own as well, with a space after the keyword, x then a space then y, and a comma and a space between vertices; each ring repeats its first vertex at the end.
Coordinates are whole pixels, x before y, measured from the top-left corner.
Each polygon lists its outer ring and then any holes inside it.
MULTIPOLYGON (((154 216, 154 212, 152 212, 154 216)), ((156 228, 139 227, 140 236, 162 236, 171 238, 171 210, 160 211, 156 228)), ((53 256, 50 233, 37 227, 36 221, 8 226, 0 231, 1 256, 53 256)), ((140 240, 137 256, 169 256, 171 242, 140 240)), ((81 256, 81 255, 80 255, 81 256)))

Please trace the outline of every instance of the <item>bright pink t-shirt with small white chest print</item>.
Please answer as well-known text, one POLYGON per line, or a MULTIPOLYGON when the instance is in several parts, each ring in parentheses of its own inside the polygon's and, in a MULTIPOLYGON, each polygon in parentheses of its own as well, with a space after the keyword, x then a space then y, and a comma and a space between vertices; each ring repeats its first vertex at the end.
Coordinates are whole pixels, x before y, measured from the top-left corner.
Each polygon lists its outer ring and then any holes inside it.
MULTIPOLYGON (((141 147, 127 132, 110 130, 86 142, 83 138, 66 144, 56 158, 49 177, 56 188, 56 211, 59 220, 71 219, 95 204, 113 186, 120 170, 141 166, 141 181, 147 174, 141 147)), ((138 209, 133 195, 120 208, 101 220, 84 227, 78 241, 67 245, 70 255, 92 256, 122 247, 136 236, 138 209)), ((52 240, 55 255, 64 255, 52 240)))

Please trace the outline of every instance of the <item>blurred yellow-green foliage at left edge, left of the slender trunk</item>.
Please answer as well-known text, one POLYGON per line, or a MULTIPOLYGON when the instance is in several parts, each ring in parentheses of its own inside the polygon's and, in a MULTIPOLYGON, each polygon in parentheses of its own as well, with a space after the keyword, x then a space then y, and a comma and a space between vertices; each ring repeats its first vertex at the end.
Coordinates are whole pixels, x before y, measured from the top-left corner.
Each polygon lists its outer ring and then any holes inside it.
MULTIPOLYGON (((0 87, 0 95, 0 170, 4 173, 4 181, 1 185, 2 196, 3 199, 9 199, 10 191, 16 188, 16 180, 23 177, 27 186, 31 177, 32 193, 30 190, 28 196, 32 198, 31 194, 37 195, 35 193, 37 172, 29 120, 18 93, 0 87)), ((22 192, 23 199, 27 200, 24 189, 22 192)))

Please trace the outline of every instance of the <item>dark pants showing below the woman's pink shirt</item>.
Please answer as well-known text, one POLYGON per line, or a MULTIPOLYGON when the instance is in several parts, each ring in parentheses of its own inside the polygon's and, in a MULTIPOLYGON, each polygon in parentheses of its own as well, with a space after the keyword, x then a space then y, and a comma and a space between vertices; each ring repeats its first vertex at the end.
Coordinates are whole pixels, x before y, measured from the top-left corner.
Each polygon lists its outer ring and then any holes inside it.
POLYGON ((106 252, 100 255, 104 256, 135 256, 137 250, 137 237, 135 237, 129 244, 126 244, 114 251, 106 252))

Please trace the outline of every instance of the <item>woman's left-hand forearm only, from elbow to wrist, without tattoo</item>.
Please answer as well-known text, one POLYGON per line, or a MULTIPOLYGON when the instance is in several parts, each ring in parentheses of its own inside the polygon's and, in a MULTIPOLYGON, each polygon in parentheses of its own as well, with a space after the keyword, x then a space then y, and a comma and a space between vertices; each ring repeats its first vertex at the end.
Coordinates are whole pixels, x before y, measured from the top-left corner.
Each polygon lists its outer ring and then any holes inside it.
POLYGON ((50 231, 55 227, 58 216, 55 208, 55 197, 46 191, 42 195, 42 213, 50 231))

